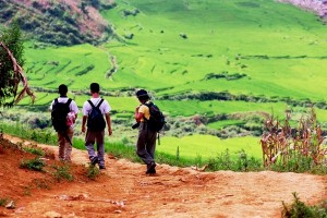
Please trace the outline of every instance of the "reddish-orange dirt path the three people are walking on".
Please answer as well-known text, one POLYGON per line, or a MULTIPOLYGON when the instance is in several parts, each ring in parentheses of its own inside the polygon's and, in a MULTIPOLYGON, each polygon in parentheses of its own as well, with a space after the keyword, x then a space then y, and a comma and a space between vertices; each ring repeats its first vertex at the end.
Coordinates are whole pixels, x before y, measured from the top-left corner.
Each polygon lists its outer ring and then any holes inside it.
MULTIPOLYGON (((12 142, 20 138, 9 137, 12 142)), ((53 149, 58 147, 38 145, 53 149)), ((73 149, 75 164, 88 162, 73 149)), ((13 217, 280 217, 281 202, 317 203, 327 198, 327 177, 300 173, 198 172, 159 165, 157 175, 145 166, 106 157, 105 178, 74 181, 22 198, 13 217), (56 216, 57 215, 57 216, 56 216)), ((1 178, 0 178, 1 179, 1 178)))

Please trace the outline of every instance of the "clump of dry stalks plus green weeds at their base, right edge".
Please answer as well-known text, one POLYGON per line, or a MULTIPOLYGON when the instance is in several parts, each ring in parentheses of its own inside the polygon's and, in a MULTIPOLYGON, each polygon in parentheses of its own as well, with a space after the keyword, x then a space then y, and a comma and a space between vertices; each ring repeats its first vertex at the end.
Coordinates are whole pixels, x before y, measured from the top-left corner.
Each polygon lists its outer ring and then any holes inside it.
POLYGON ((326 171, 327 147, 314 109, 303 116, 296 129, 290 125, 290 113, 281 123, 272 116, 262 135, 264 166, 278 171, 326 171))

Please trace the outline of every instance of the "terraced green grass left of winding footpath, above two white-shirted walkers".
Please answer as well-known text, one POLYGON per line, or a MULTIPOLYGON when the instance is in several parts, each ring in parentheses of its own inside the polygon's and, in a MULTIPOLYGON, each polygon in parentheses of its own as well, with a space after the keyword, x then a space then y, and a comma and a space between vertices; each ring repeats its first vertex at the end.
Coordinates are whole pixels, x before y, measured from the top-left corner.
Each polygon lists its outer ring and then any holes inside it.
POLYGON ((27 44, 25 57, 31 84, 43 88, 57 89, 64 83, 71 89, 88 90, 111 68, 108 51, 92 45, 34 49, 27 44))

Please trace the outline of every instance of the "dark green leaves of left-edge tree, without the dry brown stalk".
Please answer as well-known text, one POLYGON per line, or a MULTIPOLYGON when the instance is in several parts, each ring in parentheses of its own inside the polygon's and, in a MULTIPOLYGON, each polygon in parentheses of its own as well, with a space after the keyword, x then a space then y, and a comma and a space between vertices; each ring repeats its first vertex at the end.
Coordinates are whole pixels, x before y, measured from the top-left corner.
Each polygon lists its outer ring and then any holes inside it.
MULTIPOLYGON (((0 33, 0 41, 11 50, 19 65, 24 64, 23 38, 22 32, 17 23, 13 23, 9 28, 0 33)), ((14 73, 12 60, 8 51, 0 47, 0 106, 12 106, 16 96, 16 83, 21 81, 14 73), (9 100, 8 102, 5 100, 9 100)))

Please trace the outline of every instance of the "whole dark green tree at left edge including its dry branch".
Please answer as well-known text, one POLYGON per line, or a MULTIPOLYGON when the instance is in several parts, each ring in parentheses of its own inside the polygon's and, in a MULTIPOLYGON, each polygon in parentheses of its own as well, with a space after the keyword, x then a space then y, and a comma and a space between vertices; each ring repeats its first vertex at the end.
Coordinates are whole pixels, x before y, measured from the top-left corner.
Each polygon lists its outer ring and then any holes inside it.
POLYGON ((5 28, 0 35, 0 106, 13 106, 29 90, 22 65, 24 64, 24 45, 22 32, 16 22, 5 28), (23 89, 17 95, 19 84, 23 89))

